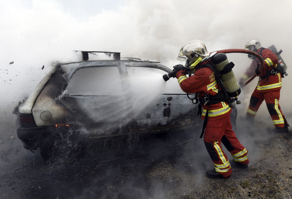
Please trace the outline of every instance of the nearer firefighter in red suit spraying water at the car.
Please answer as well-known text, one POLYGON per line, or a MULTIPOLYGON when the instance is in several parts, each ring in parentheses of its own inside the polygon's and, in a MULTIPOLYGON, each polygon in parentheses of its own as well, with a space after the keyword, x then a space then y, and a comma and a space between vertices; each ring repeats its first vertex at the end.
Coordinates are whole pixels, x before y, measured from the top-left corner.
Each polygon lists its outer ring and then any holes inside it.
POLYGON ((218 87, 214 71, 209 67, 205 67, 208 64, 213 64, 212 59, 209 58, 209 53, 203 42, 191 40, 182 47, 178 60, 186 60, 192 66, 197 63, 194 67, 194 75, 189 77, 186 76, 185 68, 181 64, 174 66, 173 70, 177 71, 176 78, 184 92, 199 93, 200 103, 203 108, 201 114, 203 120, 208 111, 204 143, 215 168, 207 170, 206 176, 209 178, 230 178, 232 168, 227 155, 221 147, 221 143, 224 144, 233 157, 232 167, 248 167, 248 150, 240 144, 232 130, 230 122, 232 108, 224 101, 215 101, 211 104, 204 101, 204 98, 209 96, 209 101, 211 102, 211 96, 216 96, 221 90, 218 87))

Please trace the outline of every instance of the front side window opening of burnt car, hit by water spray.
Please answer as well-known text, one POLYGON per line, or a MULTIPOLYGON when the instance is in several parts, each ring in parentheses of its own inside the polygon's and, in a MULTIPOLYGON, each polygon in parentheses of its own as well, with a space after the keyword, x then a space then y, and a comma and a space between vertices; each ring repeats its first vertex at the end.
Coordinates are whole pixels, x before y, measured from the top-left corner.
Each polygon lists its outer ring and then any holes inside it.
POLYGON ((176 79, 165 82, 162 76, 168 72, 154 66, 126 66, 133 93, 185 94, 176 79))

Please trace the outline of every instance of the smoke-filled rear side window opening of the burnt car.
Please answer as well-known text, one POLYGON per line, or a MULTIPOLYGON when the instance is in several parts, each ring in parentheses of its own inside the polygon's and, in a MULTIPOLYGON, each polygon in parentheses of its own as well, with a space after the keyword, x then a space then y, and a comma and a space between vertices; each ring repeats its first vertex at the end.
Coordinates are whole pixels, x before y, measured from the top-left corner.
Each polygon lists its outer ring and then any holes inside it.
POLYGON ((119 68, 85 67, 75 71, 67 85, 69 95, 116 95, 122 93, 119 68))

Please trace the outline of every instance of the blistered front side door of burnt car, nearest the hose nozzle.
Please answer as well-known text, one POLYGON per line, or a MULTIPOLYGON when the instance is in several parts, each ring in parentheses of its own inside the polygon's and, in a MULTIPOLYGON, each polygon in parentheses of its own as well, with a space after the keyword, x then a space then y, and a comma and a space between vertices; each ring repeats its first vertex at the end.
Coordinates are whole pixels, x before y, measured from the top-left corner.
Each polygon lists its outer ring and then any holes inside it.
POLYGON ((180 89, 177 80, 163 80, 169 70, 159 64, 139 62, 121 65, 121 70, 128 74, 131 110, 138 128, 182 126, 196 119, 197 107, 180 89))

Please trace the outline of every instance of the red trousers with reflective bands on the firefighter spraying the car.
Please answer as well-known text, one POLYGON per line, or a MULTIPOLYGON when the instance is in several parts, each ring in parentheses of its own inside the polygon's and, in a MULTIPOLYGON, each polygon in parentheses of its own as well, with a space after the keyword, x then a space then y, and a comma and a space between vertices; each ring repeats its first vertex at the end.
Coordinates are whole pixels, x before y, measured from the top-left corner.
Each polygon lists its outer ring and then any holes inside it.
POLYGON ((236 162, 240 164, 249 163, 247 157, 248 150, 240 144, 232 130, 230 114, 220 119, 208 120, 205 128, 204 142, 215 165, 215 171, 220 173, 224 178, 231 175, 232 169, 221 147, 221 143, 224 144, 236 162))

